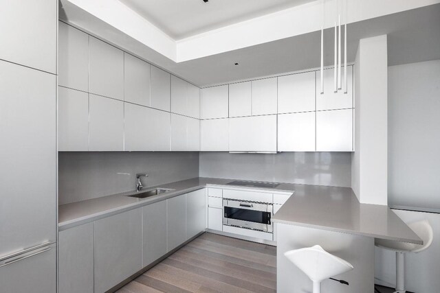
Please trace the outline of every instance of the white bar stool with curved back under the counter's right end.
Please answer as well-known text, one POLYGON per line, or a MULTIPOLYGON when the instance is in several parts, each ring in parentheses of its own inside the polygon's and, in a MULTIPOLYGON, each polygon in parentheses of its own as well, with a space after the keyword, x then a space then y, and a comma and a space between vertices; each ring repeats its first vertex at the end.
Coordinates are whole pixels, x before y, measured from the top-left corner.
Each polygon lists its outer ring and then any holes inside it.
POLYGON ((396 288, 395 293, 405 290, 405 255, 404 253, 420 253, 432 244, 434 233, 428 220, 413 222, 408 226, 423 240, 423 244, 412 244, 385 239, 375 239, 375 245, 396 252, 396 288))

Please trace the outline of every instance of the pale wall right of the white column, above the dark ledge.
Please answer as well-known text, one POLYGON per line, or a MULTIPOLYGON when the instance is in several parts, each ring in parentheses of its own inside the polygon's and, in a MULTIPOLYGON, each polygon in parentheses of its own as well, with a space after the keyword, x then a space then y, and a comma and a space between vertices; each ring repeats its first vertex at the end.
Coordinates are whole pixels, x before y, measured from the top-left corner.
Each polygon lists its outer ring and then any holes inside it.
POLYGON ((440 60, 388 67, 388 202, 440 212, 440 60))

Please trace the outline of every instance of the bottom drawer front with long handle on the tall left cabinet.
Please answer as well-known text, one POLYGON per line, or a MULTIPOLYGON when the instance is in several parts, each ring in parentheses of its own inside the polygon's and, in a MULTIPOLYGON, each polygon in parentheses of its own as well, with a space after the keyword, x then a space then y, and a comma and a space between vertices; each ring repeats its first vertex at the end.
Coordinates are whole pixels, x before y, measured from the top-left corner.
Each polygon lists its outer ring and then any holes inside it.
POLYGON ((56 293, 56 244, 32 250, 19 258, 0 267, 2 293, 56 293))

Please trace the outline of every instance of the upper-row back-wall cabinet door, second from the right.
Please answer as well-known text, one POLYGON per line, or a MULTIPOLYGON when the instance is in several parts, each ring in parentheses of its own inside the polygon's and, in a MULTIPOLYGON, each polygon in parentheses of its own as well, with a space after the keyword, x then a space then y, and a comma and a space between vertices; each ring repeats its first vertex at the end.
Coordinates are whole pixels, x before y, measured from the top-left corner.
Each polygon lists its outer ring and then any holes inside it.
POLYGON ((278 113, 315 110, 316 72, 278 77, 278 113))

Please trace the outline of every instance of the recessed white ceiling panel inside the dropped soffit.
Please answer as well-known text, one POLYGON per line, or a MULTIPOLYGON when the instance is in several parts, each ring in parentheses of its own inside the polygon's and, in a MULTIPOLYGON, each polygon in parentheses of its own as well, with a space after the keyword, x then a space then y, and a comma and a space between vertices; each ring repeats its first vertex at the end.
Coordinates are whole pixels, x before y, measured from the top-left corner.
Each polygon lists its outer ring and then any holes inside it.
POLYGON ((314 0, 119 0, 180 40, 314 0))

